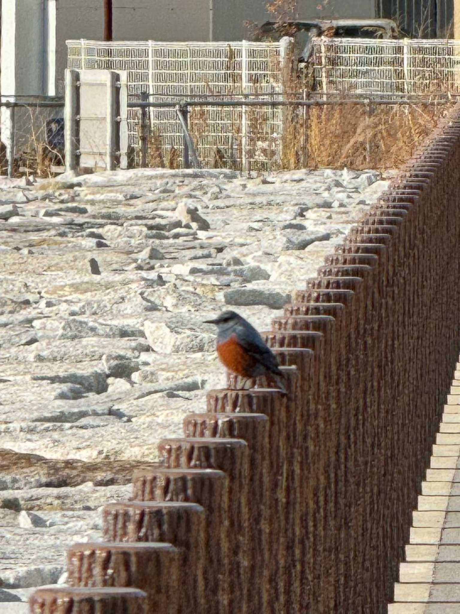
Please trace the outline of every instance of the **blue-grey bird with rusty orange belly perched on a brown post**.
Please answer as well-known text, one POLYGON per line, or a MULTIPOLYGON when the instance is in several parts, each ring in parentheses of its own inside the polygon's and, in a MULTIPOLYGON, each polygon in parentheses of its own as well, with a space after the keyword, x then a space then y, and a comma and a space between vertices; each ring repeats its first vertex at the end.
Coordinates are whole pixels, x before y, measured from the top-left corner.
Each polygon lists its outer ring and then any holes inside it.
POLYGON ((217 354, 229 371, 245 379, 269 375, 285 391, 276 356, 247 320, 234 311, 224 311, 204 323, 217 326, 217 354))

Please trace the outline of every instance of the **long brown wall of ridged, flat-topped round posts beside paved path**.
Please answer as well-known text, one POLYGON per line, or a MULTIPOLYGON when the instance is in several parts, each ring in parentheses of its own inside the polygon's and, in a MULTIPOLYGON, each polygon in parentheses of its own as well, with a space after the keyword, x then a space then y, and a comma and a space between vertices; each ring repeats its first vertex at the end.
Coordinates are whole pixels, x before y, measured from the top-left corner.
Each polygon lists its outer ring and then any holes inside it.
POLYGON ((460 104, 264 333, 288 394, 209 392, 33 612, 386 612, 460 348, 459 168, 460 104))

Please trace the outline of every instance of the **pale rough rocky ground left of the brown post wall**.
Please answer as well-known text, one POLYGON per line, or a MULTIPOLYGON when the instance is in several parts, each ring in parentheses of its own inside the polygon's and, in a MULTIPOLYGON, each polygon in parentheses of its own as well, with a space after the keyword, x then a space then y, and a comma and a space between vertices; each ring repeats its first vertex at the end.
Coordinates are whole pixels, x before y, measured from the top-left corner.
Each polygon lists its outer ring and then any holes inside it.
POLYGON ((134 461, 224 384, 202 321, 228 306, 269 327, 392 174, 1 179, 1 614, 58 581, 134 461))

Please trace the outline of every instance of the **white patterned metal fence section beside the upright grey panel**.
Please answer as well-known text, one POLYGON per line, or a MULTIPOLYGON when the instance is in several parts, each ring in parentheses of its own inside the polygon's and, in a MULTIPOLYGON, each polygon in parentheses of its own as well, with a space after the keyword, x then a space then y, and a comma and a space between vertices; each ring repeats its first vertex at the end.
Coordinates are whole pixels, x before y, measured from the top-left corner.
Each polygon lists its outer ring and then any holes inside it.
MULTIPOLYGON (((177 102, 273 96, 285 89, 289 39, 277 43, 159 43, 153 41, 67 41, 68 67, 79 71, 128 72, 131 101, 177 102)), ((171 108, 149 109, 152 165, 180 164, 183 130, 171 108), (173 159, 174 158, 174 159, 173 159)), ((283 109, 199 107, 189 117, 190 133, 204 166, 267 169, 280 157, 283 109)), ((139 164, 142 114, 129 109, 128 133, 139 164)))

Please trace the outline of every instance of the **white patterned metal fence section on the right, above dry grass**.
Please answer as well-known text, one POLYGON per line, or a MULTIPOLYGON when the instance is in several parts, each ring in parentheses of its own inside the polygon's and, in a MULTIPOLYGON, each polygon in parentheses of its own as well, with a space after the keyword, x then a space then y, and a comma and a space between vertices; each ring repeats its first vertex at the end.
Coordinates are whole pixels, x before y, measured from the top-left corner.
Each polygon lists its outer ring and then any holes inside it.
POLYGON ((313 71, 323 96, 458 96, 460 41, 316 38, 313 71))

